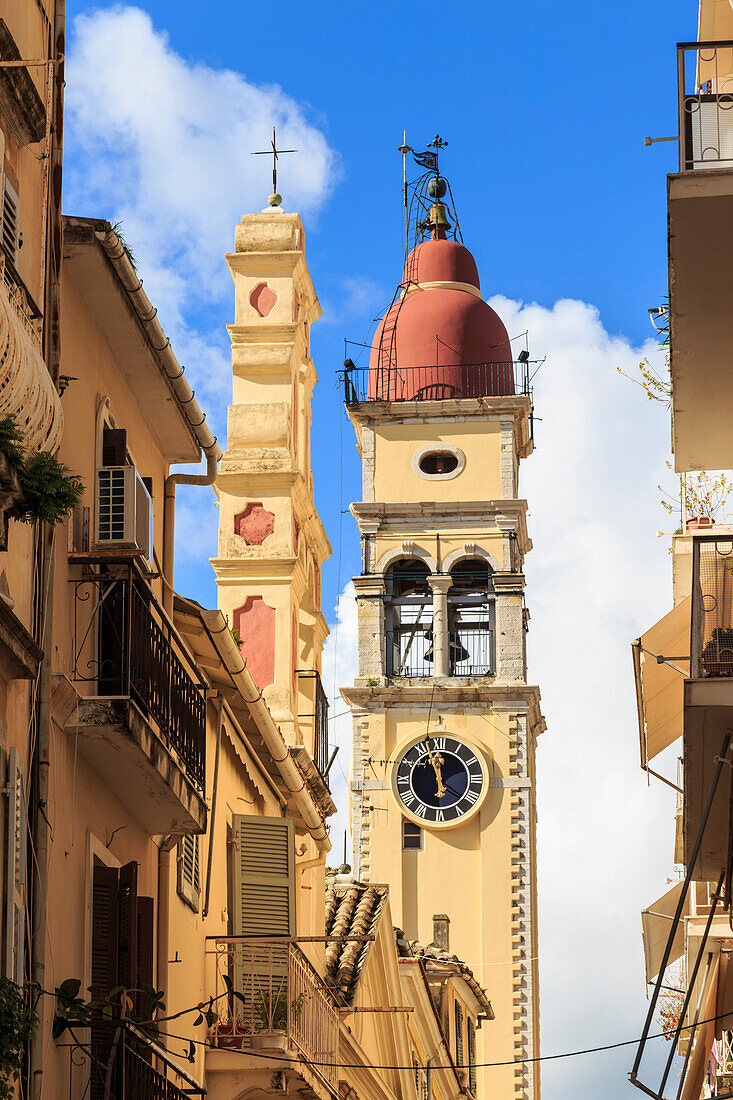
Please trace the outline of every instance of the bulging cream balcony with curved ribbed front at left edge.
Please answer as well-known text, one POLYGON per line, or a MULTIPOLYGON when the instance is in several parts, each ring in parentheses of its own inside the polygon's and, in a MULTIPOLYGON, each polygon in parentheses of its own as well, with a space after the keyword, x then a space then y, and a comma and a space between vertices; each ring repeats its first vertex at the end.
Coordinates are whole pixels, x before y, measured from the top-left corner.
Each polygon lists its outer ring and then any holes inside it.
POLYGON ((0 417, 15 418, 31 450, 56 451, 64 417, 41 353, 39 317, 15 268, 0 252, 0 417))

